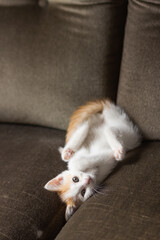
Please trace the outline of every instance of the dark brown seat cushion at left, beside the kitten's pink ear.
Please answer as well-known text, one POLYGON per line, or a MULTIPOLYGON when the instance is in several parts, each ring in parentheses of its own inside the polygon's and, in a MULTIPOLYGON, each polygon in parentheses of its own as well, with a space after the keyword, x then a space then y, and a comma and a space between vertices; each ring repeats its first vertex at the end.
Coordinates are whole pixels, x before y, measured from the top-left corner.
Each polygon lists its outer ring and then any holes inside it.
POLYGON ((65 168, 63 142, 60 130, 0 124, 1 240, 35 240, 50 225, 56 236, 62 228, 64 206, 43 187, 65 168))

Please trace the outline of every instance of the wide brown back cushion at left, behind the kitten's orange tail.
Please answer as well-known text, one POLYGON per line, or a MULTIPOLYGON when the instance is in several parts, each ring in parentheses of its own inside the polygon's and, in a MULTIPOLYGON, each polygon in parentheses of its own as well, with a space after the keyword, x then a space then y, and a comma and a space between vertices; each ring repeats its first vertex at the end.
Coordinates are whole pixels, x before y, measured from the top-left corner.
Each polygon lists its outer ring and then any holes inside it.
POLYGON ((0 8, 0 121, 66 129, 77 106, 115 99, 126 1, 0 8))

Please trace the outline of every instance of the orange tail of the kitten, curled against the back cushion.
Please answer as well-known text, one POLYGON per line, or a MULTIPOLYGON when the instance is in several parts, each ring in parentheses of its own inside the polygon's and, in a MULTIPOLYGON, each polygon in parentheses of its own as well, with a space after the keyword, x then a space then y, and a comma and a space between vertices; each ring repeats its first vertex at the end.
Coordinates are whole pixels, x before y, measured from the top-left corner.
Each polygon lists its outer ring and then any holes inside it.
POLYGON ((110 100, 96 100, 87 102, 85 105, 80 106, 71 116, 69 126, 66 134, 66 143, 69 141, 75 129, 87 120, 89 117, 96 113, 101 113, 104 109, 104 106, 109 106, 110 100))

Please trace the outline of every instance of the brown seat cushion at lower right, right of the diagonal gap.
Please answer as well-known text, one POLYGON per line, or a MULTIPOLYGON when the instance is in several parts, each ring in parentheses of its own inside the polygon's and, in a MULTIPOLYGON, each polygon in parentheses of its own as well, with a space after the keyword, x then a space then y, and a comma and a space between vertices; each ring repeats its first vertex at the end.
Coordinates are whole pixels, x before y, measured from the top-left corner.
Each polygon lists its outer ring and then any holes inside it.
POLYGON ((128 154, 96 194, 71 217, 56 240, 160 239, 160 142, 128 154))

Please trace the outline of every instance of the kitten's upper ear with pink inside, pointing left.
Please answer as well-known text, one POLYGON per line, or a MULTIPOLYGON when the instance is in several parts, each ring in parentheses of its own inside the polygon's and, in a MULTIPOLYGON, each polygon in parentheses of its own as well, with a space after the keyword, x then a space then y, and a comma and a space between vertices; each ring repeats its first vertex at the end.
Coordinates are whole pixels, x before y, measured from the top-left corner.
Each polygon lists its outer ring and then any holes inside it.
POLYGON ((57 177, 51 179, 49 182, 47 182, 44 188, 47 189, 48 191, 55 192, 59 190, 62 183, 63 183, 63 176, 62 174, 60 174, 57 177))

